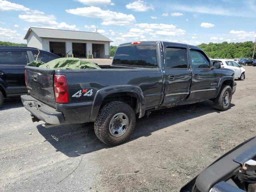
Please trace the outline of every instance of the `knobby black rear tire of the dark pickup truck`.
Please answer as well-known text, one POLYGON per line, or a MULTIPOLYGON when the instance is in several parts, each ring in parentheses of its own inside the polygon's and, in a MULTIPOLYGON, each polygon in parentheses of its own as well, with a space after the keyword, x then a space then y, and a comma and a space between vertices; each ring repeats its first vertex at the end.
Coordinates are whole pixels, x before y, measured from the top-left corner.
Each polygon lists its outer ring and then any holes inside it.
MULTIPOLYGON (((125 117, 124 117, 125 119, 125 117)), ((121 120, 122 119, 118 119, 121 120)), ((118 121, 117 121, 118 122, 118 121)), ((121 124, 121 123, 120 123, 121 124)), ((120 124, 118 126, 120 126, 120 124)), ((104 105, 98 116, 96 121, 94 122, 94 131, 96 136, 105 144, 109 146, 116 146, 124 143, 131 136, 136 124, 136 117, 134 110, 126 103, 120 101, 113 101, 106 105, 104 105), (117 114, 123 113, 128 117, 128 128, 125 127, 125 132, 120 136, 113 136, 113 132, 111 132, 110 122, 116 121, 115 117, 117 114)), ((123 129, 124 130, 124 129, 123 129)))

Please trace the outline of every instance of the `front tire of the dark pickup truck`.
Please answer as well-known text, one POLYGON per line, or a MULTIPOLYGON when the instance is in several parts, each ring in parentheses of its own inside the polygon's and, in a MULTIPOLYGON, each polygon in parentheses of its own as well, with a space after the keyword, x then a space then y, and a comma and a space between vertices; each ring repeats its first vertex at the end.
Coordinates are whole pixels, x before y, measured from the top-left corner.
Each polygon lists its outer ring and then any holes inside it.
POLYGON ((214 108, 225 111, 229 108, 232 99, 232 89, 229 85, 222 85, 218 96, 213 100, 214 108), (228 99, 227 99, 228 94, 228 99))

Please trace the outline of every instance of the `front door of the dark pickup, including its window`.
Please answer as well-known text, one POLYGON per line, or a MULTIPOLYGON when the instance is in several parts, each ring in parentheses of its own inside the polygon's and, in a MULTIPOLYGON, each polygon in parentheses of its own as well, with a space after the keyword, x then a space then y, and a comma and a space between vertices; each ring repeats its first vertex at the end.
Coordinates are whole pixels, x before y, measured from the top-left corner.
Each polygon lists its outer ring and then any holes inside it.
POLYGON ((192 67, 192 85, 188 100, 203 100, 215 97, 218 88, 218 77, 211 68, 206 54, 199 49, 190 49, 192 67))

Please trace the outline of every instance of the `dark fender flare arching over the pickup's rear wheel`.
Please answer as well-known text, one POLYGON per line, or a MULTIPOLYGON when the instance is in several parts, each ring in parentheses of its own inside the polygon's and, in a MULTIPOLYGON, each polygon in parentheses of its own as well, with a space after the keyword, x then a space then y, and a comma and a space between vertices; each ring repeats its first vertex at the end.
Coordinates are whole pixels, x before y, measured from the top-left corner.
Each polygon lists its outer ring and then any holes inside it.
POLYGON ((106 98, 106 96, 114 93, 121 93, 121 92, 131 92, 136 94, 137 99, 139 101, 139 107, 140 107, 139 118, 143 117, 145 114, 146 105, 145 105, 145 99, 144 99, 141 88, 135 85, 119 85, 119 86, 107 86, 96 92, 93 105, 92 105, 92 111, 90 114, 90 121, 96 120, 96 117, 100 110, 100 106, 104 101, 104 99, 106 98))

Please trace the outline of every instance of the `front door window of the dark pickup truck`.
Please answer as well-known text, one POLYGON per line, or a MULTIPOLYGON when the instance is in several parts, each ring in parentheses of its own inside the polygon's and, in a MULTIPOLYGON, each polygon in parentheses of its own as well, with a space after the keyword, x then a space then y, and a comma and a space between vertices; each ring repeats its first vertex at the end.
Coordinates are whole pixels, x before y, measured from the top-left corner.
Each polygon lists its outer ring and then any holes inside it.
POLYGON ((210 68, 209 60, 197 50, 190 50, 192 68, 210 68))

